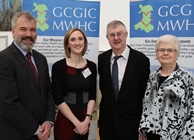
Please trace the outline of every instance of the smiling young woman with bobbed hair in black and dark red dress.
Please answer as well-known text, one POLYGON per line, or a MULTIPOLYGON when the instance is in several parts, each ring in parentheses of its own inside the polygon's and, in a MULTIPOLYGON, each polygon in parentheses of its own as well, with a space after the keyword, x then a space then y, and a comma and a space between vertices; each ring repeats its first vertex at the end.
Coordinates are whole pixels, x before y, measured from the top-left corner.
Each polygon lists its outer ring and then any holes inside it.
POLYGON ((88 41, 82 30, 64 37, 66 58, 52 67, 53 97, 58 107, 55 140, 87 140, 96 100, 96 64, 83 58, 88 41))

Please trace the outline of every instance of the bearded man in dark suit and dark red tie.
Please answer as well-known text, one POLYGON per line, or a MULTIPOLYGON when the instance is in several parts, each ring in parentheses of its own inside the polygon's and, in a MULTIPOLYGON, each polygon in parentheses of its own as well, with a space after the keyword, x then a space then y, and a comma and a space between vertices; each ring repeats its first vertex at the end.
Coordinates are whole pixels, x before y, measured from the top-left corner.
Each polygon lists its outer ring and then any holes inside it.
POLYGON ((12 19, 13 43, 0 52, 0 139, 48 140, 55 106, 46 58, 33 50, 36 20, 12 19))

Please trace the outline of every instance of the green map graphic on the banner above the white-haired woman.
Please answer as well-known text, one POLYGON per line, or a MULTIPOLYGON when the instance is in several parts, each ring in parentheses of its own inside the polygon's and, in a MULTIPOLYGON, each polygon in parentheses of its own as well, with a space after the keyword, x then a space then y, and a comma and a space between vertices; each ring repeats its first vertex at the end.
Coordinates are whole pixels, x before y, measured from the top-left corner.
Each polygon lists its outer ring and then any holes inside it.
POLYGON ((143 18, 140 20, 140 22, 135 24, 134 28, 135 30, 141 29, 149 33, 154 29, 154 26, 151 25, 151 22, 153 21, 153 18, 151 18, 151 11, 154 10, 150 5, 143 6, 142 4, 140 4, 139 8, 141 10, 138 12, 138 14, 142 13, 143 18))

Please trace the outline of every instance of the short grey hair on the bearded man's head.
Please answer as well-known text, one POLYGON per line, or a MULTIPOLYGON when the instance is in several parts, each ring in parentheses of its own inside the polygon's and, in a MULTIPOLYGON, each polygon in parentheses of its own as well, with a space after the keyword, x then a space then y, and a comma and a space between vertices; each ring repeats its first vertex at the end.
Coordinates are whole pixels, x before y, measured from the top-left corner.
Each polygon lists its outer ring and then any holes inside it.
POLYGON ((12 24, 12 29, 16 27, 16 22, 20 17, 25 17, 28 20, 33 20, 36 23, 36 19, 30 14, 30 12, 28 11, 24 11, 24 12, 18 12, 14 15, 11 24, 12 24))

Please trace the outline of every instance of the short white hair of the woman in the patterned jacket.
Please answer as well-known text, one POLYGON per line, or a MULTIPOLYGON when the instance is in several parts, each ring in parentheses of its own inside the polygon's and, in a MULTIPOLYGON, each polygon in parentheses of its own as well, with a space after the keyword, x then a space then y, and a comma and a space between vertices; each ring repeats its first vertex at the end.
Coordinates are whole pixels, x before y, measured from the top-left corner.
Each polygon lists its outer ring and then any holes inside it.
POLYGON ((166 35, 160 36, 157 39, 156 44, 155 44, 155 52, 157 52, 157 50, 159 48, 159 45, 162 42, 163 43, 174 43, 174 47, 176 48, 177 55, 180 54, 180 41, 179 41, 179 39, 176 36, 170 35, 170 34, 166 34, 166 35))

